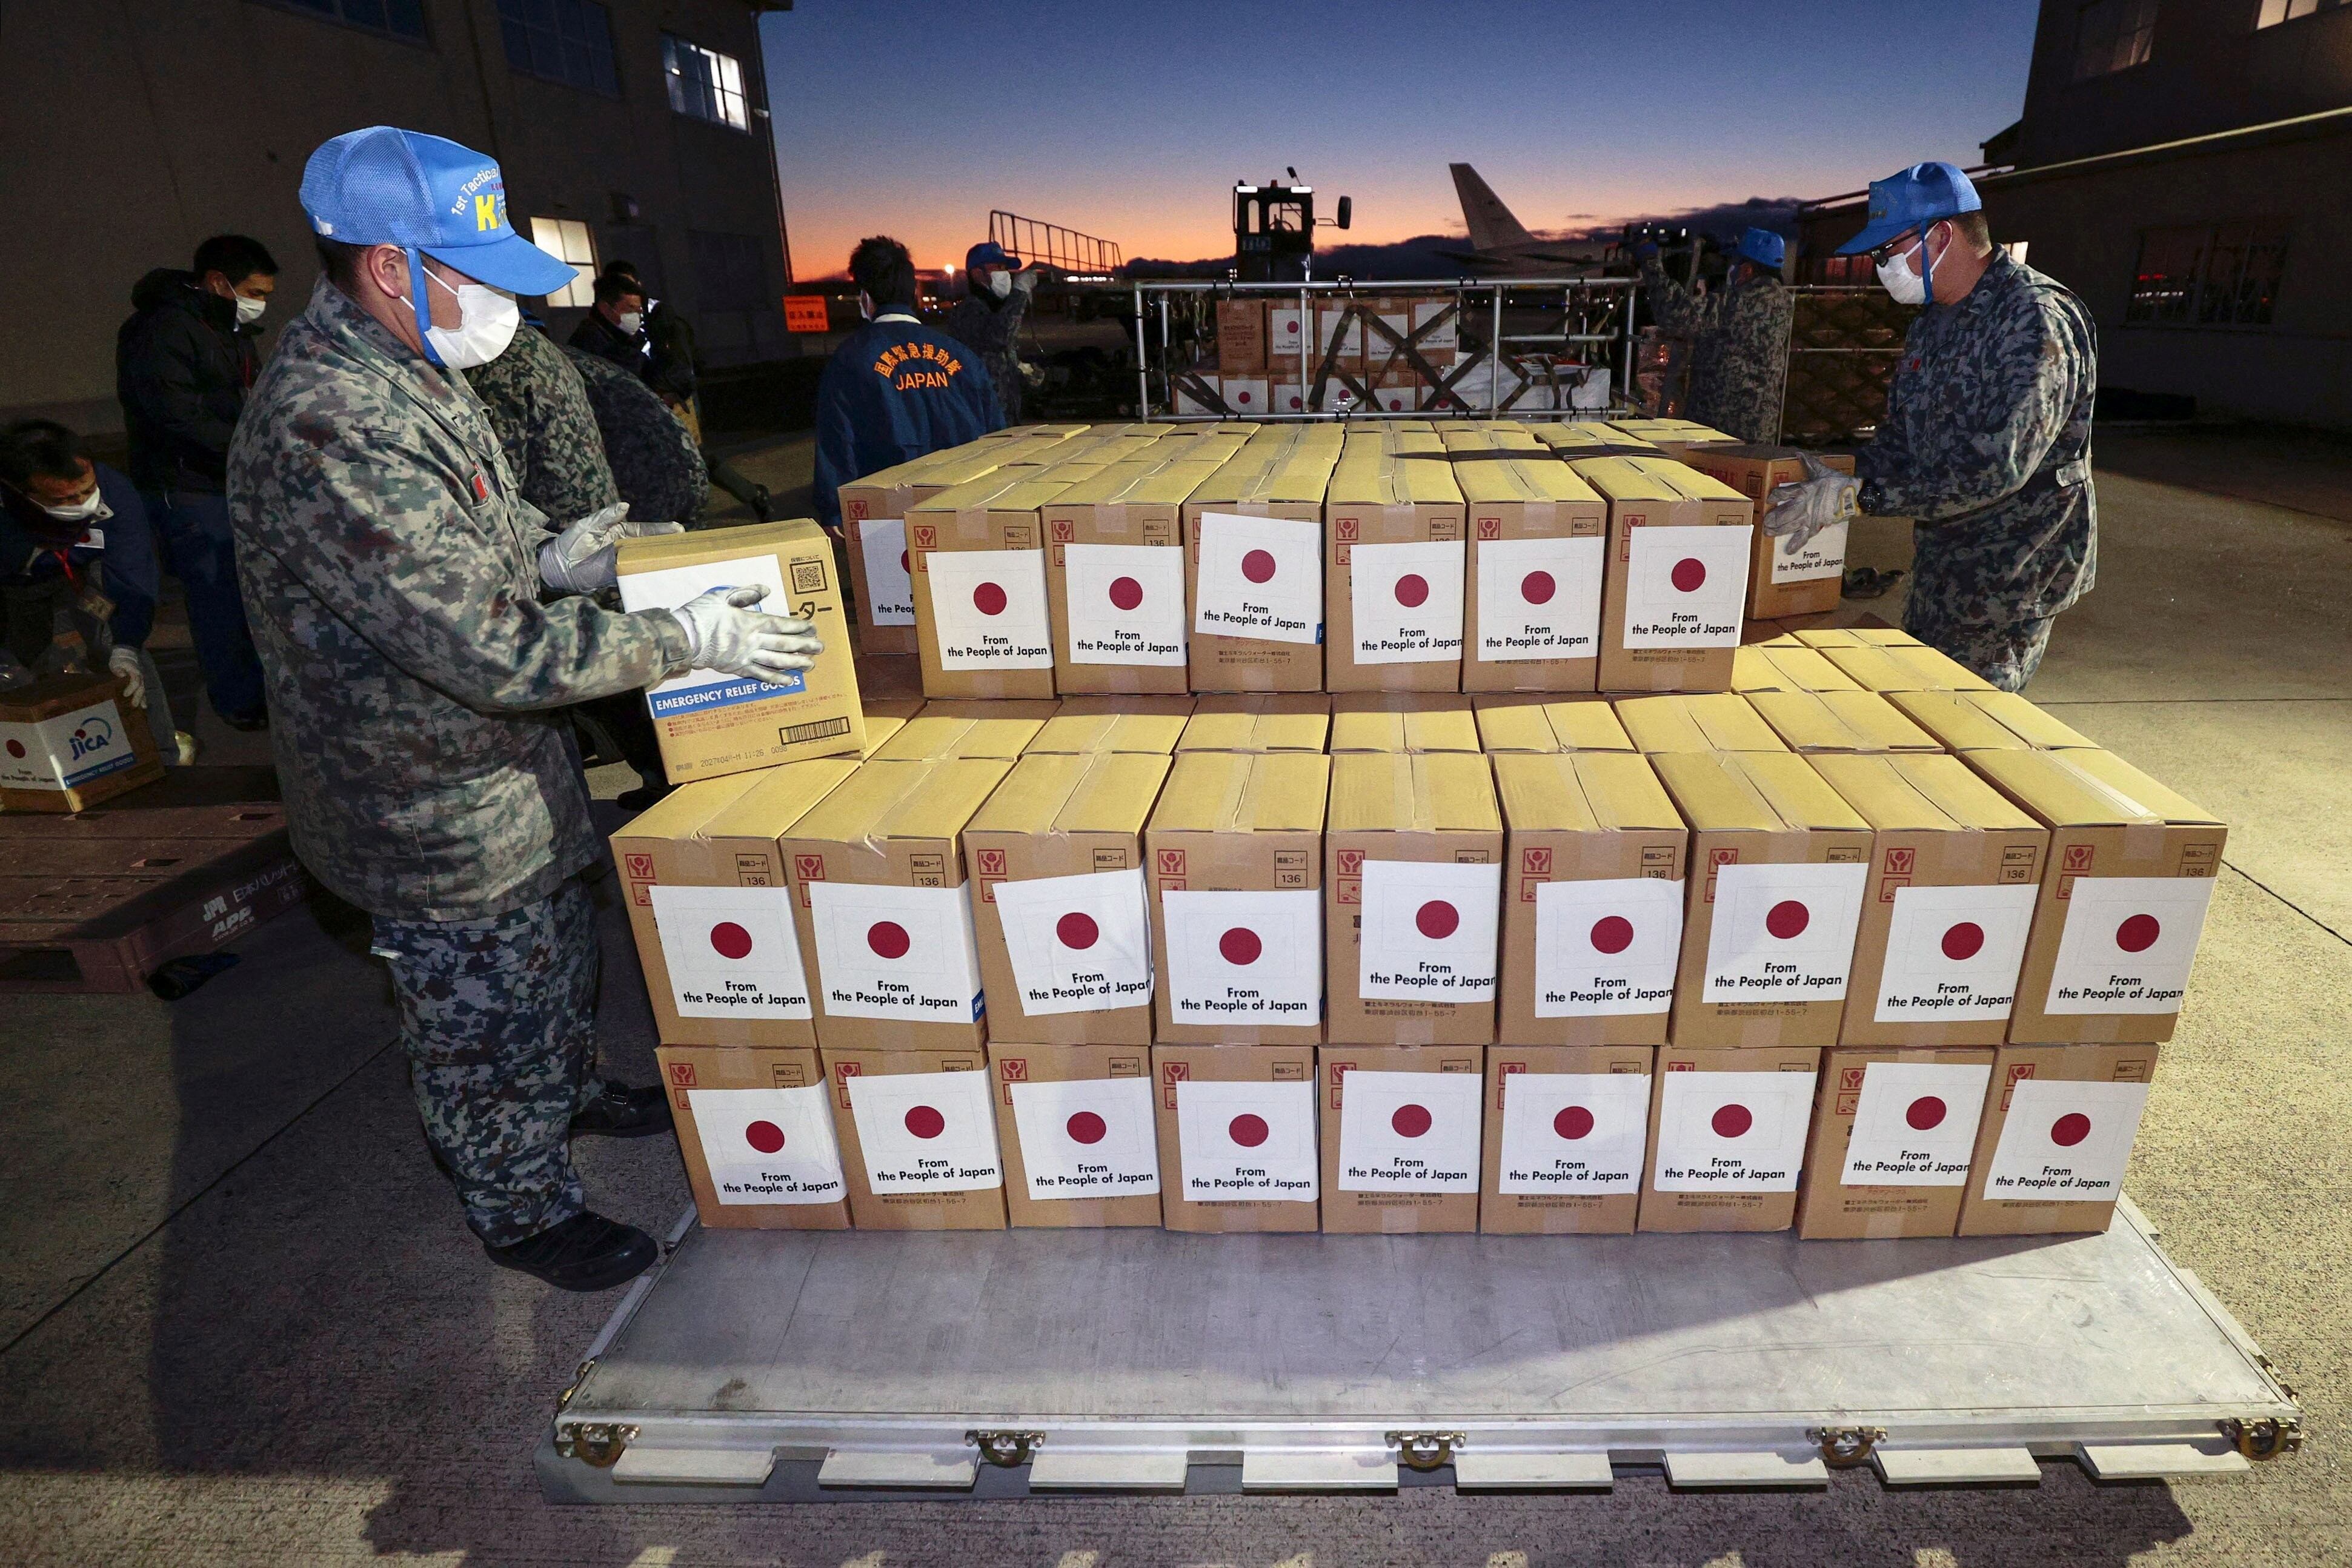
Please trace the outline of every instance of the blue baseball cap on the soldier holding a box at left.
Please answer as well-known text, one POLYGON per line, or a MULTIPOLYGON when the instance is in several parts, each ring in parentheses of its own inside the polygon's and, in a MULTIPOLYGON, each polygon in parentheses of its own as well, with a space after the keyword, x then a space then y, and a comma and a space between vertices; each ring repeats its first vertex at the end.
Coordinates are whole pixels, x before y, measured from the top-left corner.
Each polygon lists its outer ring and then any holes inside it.
POLYGON ((320 143, 301 209, 322 240, 400 244, 508 294, 555 294, 579 270, 506 221, 499 162, 447 136, 369 125, 320 143))

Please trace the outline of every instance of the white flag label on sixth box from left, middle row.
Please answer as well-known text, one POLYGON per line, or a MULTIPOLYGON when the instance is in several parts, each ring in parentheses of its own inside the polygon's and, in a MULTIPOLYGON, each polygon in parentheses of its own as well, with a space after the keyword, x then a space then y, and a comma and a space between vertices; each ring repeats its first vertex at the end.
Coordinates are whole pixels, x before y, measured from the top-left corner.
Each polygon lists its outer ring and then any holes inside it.
POLYGON ((1663 1013, 1682 961, 1682 882, 1536 884, 1536 1018, 1663 1013))

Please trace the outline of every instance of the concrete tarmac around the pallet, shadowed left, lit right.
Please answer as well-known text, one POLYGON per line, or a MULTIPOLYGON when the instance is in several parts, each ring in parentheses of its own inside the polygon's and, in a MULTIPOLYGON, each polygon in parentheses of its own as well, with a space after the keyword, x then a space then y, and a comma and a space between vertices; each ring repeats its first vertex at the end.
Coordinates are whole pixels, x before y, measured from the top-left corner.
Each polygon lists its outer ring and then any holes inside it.
MULTIPOLYGON (((616 1295, 482 1260, 423 1154, 365 922, 296 912, 179 1004, 0 1001, 0 1561, 2347 1561, 2352 461, 2265 489, 2244 458, 2209 437, 2103 442, 2100 588, 2060 621, 2032 696, 2232 823, 2129 1187, 2303 1392, 2298 1458, 2178 1488, 2046 1465, 2032 1490, 1891 1493, 1849 1472, 1811 1495, 1621 1476, 1599 1497, 550 1509, 532 1446, 616 1295)), ((1907 541, 1872 527, 1856 555, 1903 564, 1907 541)), ((609 898, 602 933, 600 1039, 649 1081, 609 898)), ((579 1164, 590 1199, 637 1225, 687 1204, 668 1140, 583 1140, 579 1164)))

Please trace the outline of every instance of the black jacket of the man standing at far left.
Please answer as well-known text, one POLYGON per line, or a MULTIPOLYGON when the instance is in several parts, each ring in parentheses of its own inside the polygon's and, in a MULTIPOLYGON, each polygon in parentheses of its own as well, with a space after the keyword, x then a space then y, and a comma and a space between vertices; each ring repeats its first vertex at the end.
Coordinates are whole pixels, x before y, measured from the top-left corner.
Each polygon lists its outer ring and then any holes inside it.
POLYGON ((132 289, 132 320, 115 334, 115 397, 143 491, 223 494, 228 437, 261 367, 238 308, 195 273, 155 268, 132 289))

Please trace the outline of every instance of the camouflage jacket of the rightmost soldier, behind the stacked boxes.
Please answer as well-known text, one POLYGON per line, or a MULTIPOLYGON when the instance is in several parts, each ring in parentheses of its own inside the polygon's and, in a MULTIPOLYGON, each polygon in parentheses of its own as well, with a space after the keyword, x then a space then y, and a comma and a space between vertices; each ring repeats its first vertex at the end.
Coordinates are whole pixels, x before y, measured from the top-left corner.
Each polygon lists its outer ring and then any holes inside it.
POLYGON ((1912 614, 2037 621, 2098 578, 2091 402, 2098 334, 2065 287, 1994 254, 1903 339, 1886 418, 1856 456, 1860 505, 1912 517, 1912 614))

